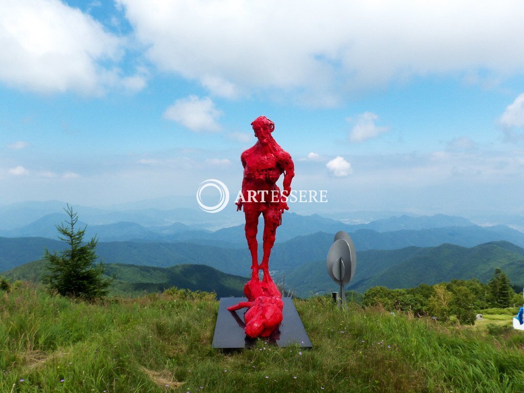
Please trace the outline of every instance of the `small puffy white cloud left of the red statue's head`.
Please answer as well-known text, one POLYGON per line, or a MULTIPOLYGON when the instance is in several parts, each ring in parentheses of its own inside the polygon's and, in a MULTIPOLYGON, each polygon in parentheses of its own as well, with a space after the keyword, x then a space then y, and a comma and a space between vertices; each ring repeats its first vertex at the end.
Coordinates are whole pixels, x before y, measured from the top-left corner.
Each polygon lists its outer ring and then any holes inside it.
POLYGON ((196 95, 190 95, 185 99, 174 102, 163 117, 182 124, 184 127, 193 131, 220 131, 221 127, 217 123, 222 112, 216 110, 215 104, 209 97, 199 99, 196 95))

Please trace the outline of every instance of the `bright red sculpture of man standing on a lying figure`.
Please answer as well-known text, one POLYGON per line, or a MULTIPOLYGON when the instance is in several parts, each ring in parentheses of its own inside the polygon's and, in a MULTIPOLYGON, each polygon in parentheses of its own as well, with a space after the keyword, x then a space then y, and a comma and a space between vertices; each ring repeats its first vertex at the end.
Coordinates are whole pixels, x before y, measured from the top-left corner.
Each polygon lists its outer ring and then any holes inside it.
POLYGON ((246 216, 246 239, 251 253, 251 279, 244 287, 247 302, 238 303, 228 310, 249 308, 245 314, 245 331, 250 337, 270 335, 282 321, 283 302, 280 292, 269 275, 269 256, 275 244, 277 227, 281 224, 282 213, 289 210, 287 198, 291 192, 291 179, 294 165, 291 156, 282 149, 271 133, 275 123, 266 116, 259 116, 253 123, 258 141, 241 155, 244 166, 242 199, 237 211, 244 209, 246 216), (276 182, 284 174, 283 190, 280 192, 276 182), (262 262, 258 264, 258 219, 264 217, 262 262), (259 279, 259 269, 264 277, 259 279))

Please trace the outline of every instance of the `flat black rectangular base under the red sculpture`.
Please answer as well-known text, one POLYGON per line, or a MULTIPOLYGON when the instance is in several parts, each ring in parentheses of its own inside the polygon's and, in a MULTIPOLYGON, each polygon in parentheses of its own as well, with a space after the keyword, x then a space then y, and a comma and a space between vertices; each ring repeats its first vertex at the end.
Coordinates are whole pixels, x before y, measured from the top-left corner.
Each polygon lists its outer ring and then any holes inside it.
POLYGON ((247 309, 228 311, 227 308, 239 302, 247 301, 246 298, 221 298, 219 315, 216 318, 213 348, 238 349, 255 345, 257 340, 265 340, 278 346, 298 344, 302 348, 312 348, 308 333, 300 320, 297 309, 291 298, 282 298, 282 322, 279 328, 269 337, 251 339, 244 332, 244 313, 247 309))

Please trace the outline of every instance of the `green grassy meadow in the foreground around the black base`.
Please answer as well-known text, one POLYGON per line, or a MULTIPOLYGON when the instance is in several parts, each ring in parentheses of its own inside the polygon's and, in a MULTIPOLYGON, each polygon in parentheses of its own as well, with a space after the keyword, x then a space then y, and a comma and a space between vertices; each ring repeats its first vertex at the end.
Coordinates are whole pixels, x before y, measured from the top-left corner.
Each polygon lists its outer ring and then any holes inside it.
POLYGON ((99 304, 32 285, 0 293, 0 391, 524 390, 521 332, 495 339, 355 304, 343 311, 313 298, 294 301, 313 350, 260 340, 223 353, 211 347, 219 303, 184 293, 99 304))

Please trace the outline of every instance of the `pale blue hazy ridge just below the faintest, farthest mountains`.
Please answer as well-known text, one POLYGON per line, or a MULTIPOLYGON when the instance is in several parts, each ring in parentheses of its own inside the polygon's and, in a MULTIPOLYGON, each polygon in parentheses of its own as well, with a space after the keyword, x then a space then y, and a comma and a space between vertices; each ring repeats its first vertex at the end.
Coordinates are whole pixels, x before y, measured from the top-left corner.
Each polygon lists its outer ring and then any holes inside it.
MULTIPOLYGON (((77 224, 77 226, 85 226, 85 222, 82 221, 83 217, 80 216, 80 218, 81 221, 77 224)), ((0 236, 48 237, 54 239, 57 236, 55 226, 66 219, 67 216, 63 213, 51 213, 25 226, 10 230, 0 230, 0 236)), ((260 233, 263 231, 263 221, 264 220, 262 217, 260 217, 260 233)), ((0 225, 1 223, 2 222, 0 221, 0 225)), ((447 216, 444 214, 418 217, 402 215, 399 217, 390 217, 385 220, 373 221, 367 224, 348 225, 340 221, 322 217, 318 214, 303 216, 292 212, 286 212, 283 216, 282 225, 277 230, 277 242, 286 242, 294 237, 310 235, 316 232, 336 233, 341 230, 348 233, 353 233, 358 230, 392 232, 399 230, 424 230, 466 226, 474 226, 474 224, 463 217, 447 216)), ((489 229, 489 227, 486 228, 489 229)), ((491 227, 491 230, 496 232, 508 232, 508 228, 502 226, 491 227)), ((513 234, 512 237, 507 238, 507 240, 517 241, 518 231, 512 230, 511 233, 513 234)), ((205 241, 209 241, 211 242, 210 244, 215 244, 214 242, 217 242, 216 244, 223 244, 226 247, 244 247, 246 244, 244 224, 221 228, 214 232, 203 230, 202 228, 199 228, 195 225, 186 225, 181 222, 161 226, 143 226, 136 222, 130 221, 102 225, 88 225, 86 236, 93 237, 95 235, 102 242, 173 242, 198 240, 198 243, 205 243, 205 241)), ((524 235, 522 235, 521 238, 524 239, 524 235)))

